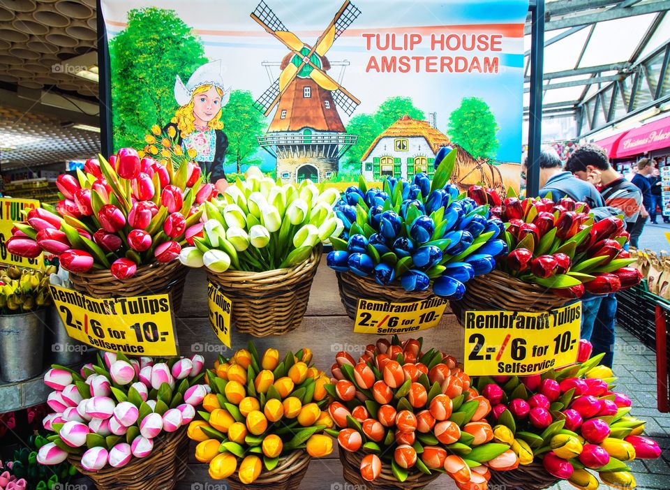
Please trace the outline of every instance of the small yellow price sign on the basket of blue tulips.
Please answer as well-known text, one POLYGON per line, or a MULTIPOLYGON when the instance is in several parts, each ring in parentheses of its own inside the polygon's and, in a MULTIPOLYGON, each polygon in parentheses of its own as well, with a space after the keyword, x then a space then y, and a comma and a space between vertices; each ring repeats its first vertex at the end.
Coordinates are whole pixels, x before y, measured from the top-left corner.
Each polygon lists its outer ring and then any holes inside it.
POLYGON ((429 298, 413 303, 391 303, 359 299, 354 332, 359 334, 409 334, 436 327, 447 301, 429 298))

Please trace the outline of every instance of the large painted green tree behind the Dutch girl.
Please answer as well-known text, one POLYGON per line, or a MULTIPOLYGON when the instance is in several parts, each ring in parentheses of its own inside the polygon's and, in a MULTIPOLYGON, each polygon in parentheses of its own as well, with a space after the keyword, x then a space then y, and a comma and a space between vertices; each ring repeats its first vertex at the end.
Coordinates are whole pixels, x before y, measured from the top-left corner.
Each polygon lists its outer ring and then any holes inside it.
POLYGON ((110 41, 114 148, 142 147, 152 125, 174 117, 174 80, 207 63, 202 41, 174 10, 128 12, 128 27, 110 41))

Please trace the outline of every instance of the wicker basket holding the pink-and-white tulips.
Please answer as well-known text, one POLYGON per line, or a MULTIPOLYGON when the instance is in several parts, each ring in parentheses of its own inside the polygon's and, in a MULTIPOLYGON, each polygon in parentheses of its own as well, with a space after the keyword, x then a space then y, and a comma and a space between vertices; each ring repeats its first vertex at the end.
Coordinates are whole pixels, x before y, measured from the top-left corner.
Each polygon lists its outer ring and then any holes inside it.
POLYGON ((172 490, 184 476, 188 463, 186 427, 154 440, 154 450, 146 458, 133 458, 121 468, 106 466, 96 473, 82 468, 81 456, 68 461, 79 473, 91 478, 98 490, 172 490))

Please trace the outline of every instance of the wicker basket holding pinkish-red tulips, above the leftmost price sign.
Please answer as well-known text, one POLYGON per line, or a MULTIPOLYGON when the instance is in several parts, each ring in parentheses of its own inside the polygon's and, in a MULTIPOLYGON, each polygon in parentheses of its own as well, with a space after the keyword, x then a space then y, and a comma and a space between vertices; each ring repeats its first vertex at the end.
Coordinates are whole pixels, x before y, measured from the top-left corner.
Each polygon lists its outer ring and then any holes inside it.
POLYGON ((135 275, 124 281, 119 281, 112 276, 109 269, 95 269, 80 274, 70 272, 70 281, 75 290, 96 298, 170 292, 172 307, 178 310, 181 306, 181 297, 184 295, 186 274, 188 274, 188 268, 181 265, 179 260, 173 260, 168 264, 155 262, 137 267, 135 275))

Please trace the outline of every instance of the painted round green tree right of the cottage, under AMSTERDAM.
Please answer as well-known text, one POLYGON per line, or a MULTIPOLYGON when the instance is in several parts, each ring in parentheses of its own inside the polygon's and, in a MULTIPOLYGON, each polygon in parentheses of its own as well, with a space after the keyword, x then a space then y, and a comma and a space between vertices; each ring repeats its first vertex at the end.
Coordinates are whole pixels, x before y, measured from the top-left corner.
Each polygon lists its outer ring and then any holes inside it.
POLYGON ((493 158, 498 149, 498 123, 489 104, 466 97, 449 116, 447 135, 475 158, 493 158))

